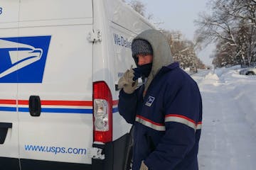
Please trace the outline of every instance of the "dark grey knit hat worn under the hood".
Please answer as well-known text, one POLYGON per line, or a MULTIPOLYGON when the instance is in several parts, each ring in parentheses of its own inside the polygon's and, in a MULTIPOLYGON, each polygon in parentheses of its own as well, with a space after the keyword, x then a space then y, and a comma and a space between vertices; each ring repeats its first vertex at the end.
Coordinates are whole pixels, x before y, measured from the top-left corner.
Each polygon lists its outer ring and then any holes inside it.
POLYGON ((153 55, 153 50, 148 41, 136 39, 132 42, 132 57, 136 55, 153 55))

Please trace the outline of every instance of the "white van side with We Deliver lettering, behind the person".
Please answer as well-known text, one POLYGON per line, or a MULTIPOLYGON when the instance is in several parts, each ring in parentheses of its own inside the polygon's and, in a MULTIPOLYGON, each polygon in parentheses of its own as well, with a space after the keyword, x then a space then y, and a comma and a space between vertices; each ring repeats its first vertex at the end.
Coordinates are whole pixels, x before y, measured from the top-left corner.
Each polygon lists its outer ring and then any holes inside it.
MULTIPOLYGON (((111 64, 114 64, 113 67, 110 67, 112 72, 110 82, 117 86, 118 80, 124 72, 131 66, 136 67, 132 59, 132 39, 143 30, 152 29, 154 26, 122 1, 105 0, 103 3, 107 17, 107 45, 109 53, 112 54, 110 55, 111 64)), ((112 95, 114 101, 118 103, 119 90, 116 87, 112 88, 112 95)), ((131 125, 119 115, 117 105, 113 109, 115 111, 113 114, 113 140, 117 140, 129 132, 131 125)))

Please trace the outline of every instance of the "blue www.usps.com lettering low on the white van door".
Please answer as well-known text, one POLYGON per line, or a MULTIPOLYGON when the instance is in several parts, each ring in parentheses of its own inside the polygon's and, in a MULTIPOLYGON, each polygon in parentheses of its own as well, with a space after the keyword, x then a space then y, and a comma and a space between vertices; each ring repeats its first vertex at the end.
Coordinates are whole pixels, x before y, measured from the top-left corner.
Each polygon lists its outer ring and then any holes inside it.
POLYGON ((25 145, 28 152, 51 152, 53 154, 86 154, 86 149, 73 147, 46 147, 40 145, 25 145))

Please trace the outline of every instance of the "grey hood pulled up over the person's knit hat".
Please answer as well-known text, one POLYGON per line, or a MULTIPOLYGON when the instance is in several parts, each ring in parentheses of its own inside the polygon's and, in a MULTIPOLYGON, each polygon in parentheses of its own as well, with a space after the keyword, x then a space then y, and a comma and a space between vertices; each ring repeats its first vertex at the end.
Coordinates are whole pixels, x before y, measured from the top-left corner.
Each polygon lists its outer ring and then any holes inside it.
MULTIPOLYGON (((146 91, 161 67, 167 66, 174 61, 171 56, 170 45, 166 37, 159 30, 145 30, 134 38, 134 40, 137 39, 148 41, 153 49, 152 69, 145 84, 146 91)), ((132 40, 132 42, 134 42, 134 40, 132 40)))

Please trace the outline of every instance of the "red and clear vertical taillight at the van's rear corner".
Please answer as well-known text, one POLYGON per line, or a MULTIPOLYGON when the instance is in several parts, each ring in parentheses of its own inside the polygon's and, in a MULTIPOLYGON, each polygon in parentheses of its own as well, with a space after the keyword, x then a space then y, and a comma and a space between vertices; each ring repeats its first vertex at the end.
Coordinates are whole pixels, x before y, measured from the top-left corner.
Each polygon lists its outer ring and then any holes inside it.
POLYGON ((112 141, 112 95, 105 81, 93 83, 93 141, 112 141))

